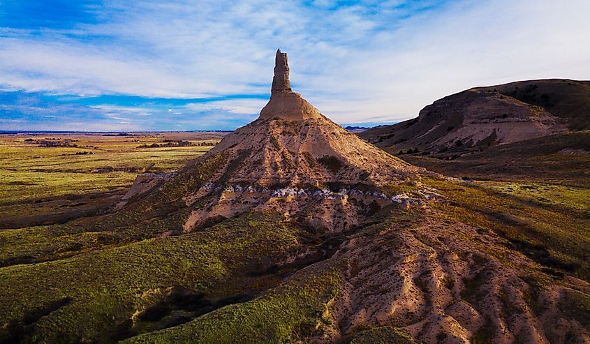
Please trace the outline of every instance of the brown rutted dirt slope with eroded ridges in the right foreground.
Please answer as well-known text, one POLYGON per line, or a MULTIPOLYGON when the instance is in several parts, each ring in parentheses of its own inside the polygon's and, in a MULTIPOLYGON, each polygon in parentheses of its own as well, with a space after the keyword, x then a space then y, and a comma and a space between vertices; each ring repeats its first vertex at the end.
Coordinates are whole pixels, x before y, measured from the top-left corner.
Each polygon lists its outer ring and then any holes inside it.
POLYGON ((339 324, 335 336, 369 323, 395 324, 424 343, 589 339, 580 322, 558 308, 568 289, 540 288, 524 272, 536 264, 506 250, 505 239, 493 233, 428 219, 411 230, 391 227, 345 245, 335 256, 349 263, 343 290, 329 308, 339 324))

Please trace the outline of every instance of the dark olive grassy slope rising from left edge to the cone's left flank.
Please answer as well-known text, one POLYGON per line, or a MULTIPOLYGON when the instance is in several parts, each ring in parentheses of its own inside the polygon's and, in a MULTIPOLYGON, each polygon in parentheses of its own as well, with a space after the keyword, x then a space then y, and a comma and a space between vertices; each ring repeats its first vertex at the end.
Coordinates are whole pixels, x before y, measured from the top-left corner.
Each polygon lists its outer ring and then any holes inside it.
POLYGON ((191 163, 186 167, 188 172, 133 200, 115 214, 80 218, 63 225, 2 230, 0 263, 6 266, 56 260, 156 237, 171 230, 181 232, 191 209, 200 205, 186 207, 181 195, 198 189, 224 162, 223 155, 215 154, 191 163))

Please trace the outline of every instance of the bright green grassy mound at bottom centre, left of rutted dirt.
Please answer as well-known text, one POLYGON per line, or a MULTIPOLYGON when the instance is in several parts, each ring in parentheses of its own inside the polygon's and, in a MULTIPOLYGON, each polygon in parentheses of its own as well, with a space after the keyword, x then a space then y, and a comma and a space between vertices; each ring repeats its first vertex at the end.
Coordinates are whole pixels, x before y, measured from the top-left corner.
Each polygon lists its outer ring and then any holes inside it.
POLYGON ((327 306, 339 285, 335 270, 311 267, 263 297, 124 343, 297 343, 330 326, 327 306))

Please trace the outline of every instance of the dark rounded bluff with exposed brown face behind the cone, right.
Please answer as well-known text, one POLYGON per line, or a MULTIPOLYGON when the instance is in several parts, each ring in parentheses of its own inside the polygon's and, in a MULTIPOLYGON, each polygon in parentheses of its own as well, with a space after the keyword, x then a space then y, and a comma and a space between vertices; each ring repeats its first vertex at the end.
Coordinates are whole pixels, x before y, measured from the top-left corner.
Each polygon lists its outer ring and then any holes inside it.
POLYGON ((590 128, 590 83, 531 80, 475 87, 427 105, 415 119, 359 133, 390 152, 477 151, 590 128))

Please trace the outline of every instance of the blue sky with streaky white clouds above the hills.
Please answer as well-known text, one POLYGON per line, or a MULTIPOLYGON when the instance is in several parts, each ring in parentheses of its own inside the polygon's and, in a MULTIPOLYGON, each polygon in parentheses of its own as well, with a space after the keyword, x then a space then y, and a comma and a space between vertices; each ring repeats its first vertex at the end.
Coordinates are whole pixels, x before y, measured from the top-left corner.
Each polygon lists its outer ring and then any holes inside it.
POLYGON ((233 130, 274 54, 342 125, 471 87, 590 80, 588 0, 0 0, 0 130, 233 130))

